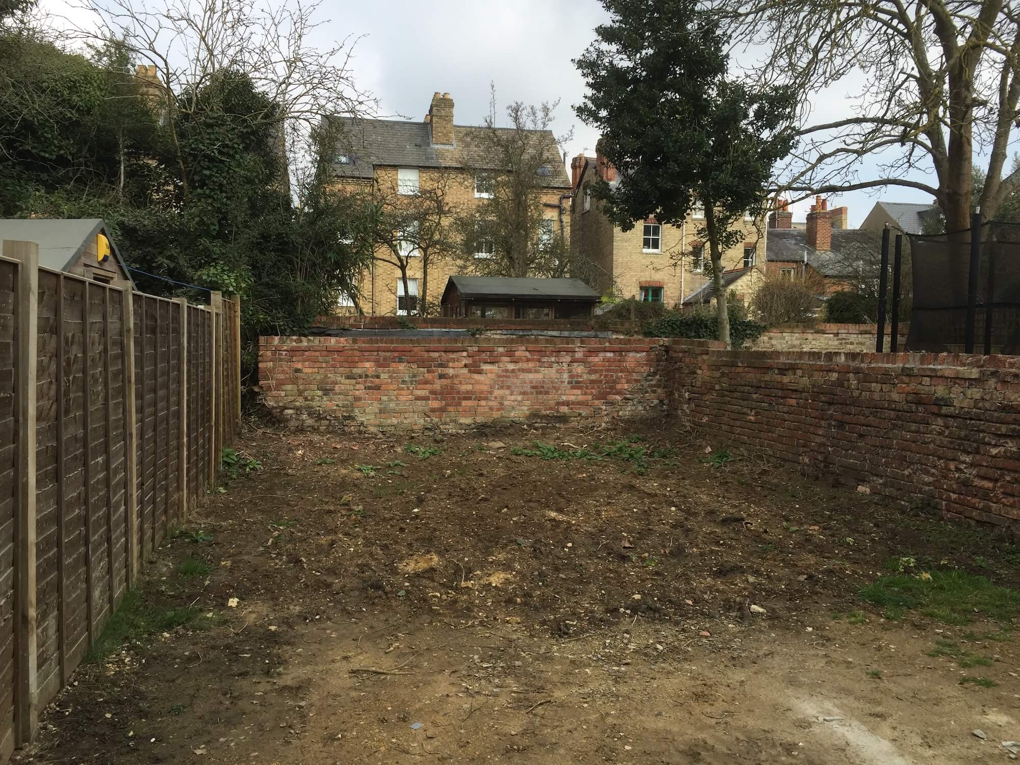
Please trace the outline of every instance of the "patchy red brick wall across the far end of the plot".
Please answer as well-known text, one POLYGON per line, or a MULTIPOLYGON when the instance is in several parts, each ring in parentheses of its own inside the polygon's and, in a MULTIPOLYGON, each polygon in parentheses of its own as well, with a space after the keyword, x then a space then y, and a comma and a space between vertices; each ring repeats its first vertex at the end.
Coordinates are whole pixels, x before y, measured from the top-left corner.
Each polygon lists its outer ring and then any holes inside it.
POLYGON ((664 357, 631 338, 262 338, 259 382, 296 427, 464 429, 661 416, 664 357))

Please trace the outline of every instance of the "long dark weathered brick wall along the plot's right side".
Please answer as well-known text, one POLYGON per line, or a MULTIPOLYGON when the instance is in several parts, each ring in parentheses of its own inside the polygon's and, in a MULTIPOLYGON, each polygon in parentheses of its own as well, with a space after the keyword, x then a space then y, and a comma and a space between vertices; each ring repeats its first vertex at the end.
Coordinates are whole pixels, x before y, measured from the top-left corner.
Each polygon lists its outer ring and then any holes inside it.
POLYGON ((710 441, 872 493, 1020 519, 1020 357, 669 346, 670 408, 710 441))

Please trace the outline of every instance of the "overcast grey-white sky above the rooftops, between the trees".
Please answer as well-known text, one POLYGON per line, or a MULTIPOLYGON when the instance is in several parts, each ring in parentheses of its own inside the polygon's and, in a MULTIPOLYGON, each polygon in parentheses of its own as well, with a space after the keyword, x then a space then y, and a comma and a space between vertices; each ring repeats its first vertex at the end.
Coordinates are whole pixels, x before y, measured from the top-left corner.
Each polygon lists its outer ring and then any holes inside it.
MULTIPOLYGON (((67 13, 68 3, 43 0, 43 8, 67 13)), ((477 124, 489 112, 493 83, 501 116, 508 102, 559 99, 553 131, 557 136, 573 132, 564 147, 568 163, 582 151, 595 153, 598 135, 571 108, 584 94, 571 60, 606 18, 598 0, 323 0, 320 17, 328 19, 315 32, 323 47, 348 35, 361 36, 352 69, 359 87, 378 99, 380 114, 421 119, 432 93, 440 91, 453 97, 458 124, 477 124)), ((837 86, 816 99, 816 116, 846 113, 846 91, 847 86, 837 86)), ((868 176, 866 170, 862 176, 868 176)), ((878 198, 931 201, 922 192, 890 187, 845 194, 830 206, 847 205, 850 224, 857 225, 878 198)), ((809 204, 795 207, 795 220, 804 219, 809 204)))

